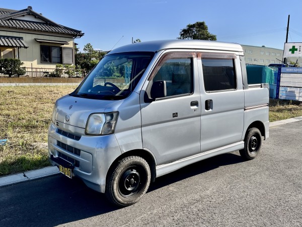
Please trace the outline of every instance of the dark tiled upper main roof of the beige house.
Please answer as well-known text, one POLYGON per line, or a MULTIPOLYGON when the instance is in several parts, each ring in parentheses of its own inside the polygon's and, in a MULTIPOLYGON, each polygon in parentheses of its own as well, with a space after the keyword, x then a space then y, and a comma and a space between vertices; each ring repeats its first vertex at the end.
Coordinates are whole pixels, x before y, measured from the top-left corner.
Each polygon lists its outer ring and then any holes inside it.
POLYGON ((0 27, 63 33, 74 37, 81 37, 84 35, 82 31, 56 24, 55 22, 43 17, 41 14, 34 12, 31 7, 20 11, 0 8, 0 27), (44 21, 44 23, 15 19, 16 17, 25 15, 33 15, 44 21))

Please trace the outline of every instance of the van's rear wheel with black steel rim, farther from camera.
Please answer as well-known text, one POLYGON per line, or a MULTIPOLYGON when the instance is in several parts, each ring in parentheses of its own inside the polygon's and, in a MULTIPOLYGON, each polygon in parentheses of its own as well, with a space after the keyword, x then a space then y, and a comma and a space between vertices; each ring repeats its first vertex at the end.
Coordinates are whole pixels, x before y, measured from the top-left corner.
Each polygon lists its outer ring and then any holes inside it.
POLYGON ((262 136, 259 129, 251 128, 244 139, 244 149, 240 150, 239 153, 245 160, 252 160, 260 152, 261 145, 262 136))

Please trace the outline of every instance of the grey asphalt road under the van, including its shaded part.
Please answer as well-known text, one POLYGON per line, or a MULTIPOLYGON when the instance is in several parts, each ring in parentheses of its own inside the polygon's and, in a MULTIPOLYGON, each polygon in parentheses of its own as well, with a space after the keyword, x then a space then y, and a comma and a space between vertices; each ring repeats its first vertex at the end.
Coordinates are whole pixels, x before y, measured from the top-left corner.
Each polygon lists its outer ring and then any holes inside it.
POLYGON ((302 121, 270 128, 252 161, 239 152, 160 177, 117 209, 63 175, 0 188, 0 226, 301 226, 302 121))

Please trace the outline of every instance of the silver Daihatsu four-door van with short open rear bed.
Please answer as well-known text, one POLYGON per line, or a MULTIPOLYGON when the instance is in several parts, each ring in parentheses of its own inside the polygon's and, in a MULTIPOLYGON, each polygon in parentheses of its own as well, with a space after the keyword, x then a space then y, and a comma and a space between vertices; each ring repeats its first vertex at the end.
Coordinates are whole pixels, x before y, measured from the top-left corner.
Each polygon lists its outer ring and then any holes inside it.
POLYGON ((134 43, 110 51, 75 91, 58 99, 48 131, 51 164, 119 206, 188 164, 269 136, 268 85, 248 85, 239 44, 134 43))

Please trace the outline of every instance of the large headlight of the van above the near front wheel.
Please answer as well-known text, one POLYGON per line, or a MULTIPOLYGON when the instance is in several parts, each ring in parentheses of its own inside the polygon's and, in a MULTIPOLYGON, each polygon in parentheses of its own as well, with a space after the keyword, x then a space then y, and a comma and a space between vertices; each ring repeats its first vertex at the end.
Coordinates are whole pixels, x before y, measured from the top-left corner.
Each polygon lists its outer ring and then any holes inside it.
POLYGON ((85 134, 108 135, 114 133, 118 112, 92 113, 87 121, 85 134))

